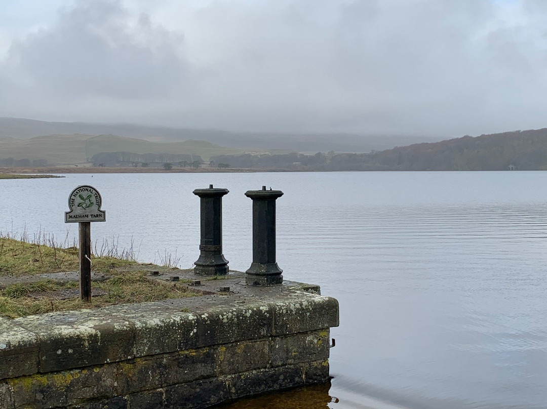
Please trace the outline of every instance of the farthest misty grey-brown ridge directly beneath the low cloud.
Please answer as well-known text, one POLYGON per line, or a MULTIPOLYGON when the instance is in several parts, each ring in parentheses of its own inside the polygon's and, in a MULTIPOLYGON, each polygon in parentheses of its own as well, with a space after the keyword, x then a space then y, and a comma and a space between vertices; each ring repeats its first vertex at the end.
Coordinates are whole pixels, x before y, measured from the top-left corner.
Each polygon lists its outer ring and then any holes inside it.
POLYGON ((301 135, 289 133, 246 133, 187 128, 153 127, 131 124, 90 124, 86 122, 46 122, 21 118, 0 118, 0 137, 28 139, 44 135, 118 135, 156 142, 180 142, 188 139, 207 141, 230 148, 283 149, 299 152, 343 151, 368 152, 429 142, 428 137, 417 136, 362 136, 344 133, 301 135))

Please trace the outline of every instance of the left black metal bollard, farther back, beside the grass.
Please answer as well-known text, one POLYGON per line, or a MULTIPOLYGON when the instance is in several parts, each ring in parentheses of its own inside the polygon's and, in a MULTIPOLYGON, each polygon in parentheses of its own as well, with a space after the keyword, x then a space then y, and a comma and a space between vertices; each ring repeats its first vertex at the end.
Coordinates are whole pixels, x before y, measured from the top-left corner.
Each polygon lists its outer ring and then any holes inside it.
POLYGON ((200 257, 194 263, 194 272, 201 276, 228 274, 228 260, 222 254, 222 196, 228 189, 196 189, 201 200, 200 257))

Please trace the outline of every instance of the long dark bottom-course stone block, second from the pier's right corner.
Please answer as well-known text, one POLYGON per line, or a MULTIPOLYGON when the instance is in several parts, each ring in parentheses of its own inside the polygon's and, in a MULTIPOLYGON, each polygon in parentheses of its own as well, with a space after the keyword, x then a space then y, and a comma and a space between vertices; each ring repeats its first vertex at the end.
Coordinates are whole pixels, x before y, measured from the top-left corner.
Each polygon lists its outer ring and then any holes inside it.
POLYGON ((226 377, 230 398, 301 386, 304 384, 304 368, 286 365, 277 368, 254 370, 226 377))

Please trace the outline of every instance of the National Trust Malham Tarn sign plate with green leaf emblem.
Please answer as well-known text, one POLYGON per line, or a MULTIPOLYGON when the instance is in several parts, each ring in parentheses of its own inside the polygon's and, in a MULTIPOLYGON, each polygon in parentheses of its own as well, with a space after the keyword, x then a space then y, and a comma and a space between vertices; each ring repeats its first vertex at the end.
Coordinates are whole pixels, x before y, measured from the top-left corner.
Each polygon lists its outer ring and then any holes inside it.
POLYGON ((102 198, 93 186, 78 186, 68 196, 69 212, 65 212, 65 223, 82 221, 106 221, 106 212, 101 210, 102 198))

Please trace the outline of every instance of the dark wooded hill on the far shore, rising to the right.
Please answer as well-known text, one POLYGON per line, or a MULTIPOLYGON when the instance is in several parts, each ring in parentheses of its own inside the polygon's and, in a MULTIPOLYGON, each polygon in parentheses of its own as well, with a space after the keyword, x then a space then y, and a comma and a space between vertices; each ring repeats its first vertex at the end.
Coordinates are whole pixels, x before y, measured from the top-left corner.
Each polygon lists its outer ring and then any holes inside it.
POLYGON ((222 155, 231 167, 318 171, 547 170, 547 128, 464 136, 366 154, 222 155))

